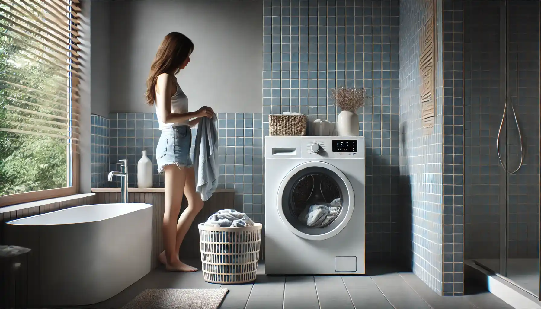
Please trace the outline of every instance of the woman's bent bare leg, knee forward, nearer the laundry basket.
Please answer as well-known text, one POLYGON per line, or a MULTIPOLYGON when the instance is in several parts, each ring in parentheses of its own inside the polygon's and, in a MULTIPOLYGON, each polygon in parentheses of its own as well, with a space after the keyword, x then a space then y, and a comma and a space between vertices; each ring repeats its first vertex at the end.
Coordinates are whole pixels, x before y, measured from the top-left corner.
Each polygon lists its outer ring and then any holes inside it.
MULTIPOLYGON (((186 199, 188 200, 188 207, 184 209, 182 214, 180 215, 179 221, 177 222, 176 226, 176 240, 175 240, 175 252, 178 254, 180 251, 180 246, 182 245, 182 241, 184 240, 184 236, 186 236, 186 233, 188 232, 188 229, 192 225, 192 222, 195 219, 195 216, 201 211, 203 208, 203 201, 201 200, 201 196, 195 192, 195 173, 193 168, 183 169, 185 171, 184 173, 184 195, 186 195, 186 199)), ((167 186, 167 185, 166 185, 167 186)), ((180 187, 175 185, 175 188, 177 189, 176 192, 179 192, 180 187)), ((166 189, 167 192, 167 189, 166 189)), ((181 202, 182 202, 182 196, 181 196, 181 202)), ((179 209, 180 211, 180 209, 179 209)), ((178 215, 178 211, 176 212, 178 215)), ((167 251, 167 248, 166 248, 167 251)), ((160 254, 160 261, 163 264, 167 263, 167 253, 166 251, 163 251, 160 254)), ((178 255, 177 255, 178 258, 178 255)), ((186 265, 186 264, 184 264, 186 265)), ((188 265, 186 265, 188 266, 188 265)), ((188 266, 192 268, 192 271, 197 271, 197 268, 188 266)))

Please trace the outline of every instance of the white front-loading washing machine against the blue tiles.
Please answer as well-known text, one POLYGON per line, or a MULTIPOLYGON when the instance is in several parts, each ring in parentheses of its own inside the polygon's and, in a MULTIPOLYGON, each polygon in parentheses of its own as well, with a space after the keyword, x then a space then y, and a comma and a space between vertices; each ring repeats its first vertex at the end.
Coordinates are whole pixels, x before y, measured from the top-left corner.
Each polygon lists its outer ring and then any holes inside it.
POLYGON ((265 137, 265 272, 365 273, 363 136, 265 137))

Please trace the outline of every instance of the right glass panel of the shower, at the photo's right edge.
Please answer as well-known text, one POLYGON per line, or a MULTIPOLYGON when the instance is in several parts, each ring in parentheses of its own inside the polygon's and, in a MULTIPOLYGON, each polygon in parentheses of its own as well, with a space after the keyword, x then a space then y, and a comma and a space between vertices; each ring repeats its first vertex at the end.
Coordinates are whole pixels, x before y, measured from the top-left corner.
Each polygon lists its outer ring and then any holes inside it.
POLYGON ((539 2, 506 6, 505 277, 539 296, 539 2))

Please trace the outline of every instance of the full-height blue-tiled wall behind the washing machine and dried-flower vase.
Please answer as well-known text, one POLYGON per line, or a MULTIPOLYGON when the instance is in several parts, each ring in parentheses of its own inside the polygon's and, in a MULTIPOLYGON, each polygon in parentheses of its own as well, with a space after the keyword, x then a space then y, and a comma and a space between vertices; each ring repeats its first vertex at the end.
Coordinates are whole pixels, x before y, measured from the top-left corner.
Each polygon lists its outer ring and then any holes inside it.
POLYGON ((399 2, 263 1, 263 135, 282 111, 335 122, 327 97, 364 87, 358 111, 366 138, 367 258, 396 257, 399 246, 399 2))

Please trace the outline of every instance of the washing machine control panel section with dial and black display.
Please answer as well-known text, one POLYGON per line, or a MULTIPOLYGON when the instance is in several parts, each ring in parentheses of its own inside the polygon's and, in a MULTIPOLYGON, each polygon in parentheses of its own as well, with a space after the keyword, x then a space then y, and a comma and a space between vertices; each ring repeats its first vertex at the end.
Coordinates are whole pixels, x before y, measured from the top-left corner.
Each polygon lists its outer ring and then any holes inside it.
POLYGON ((364 158, 364 136, 302 136, 302 157, 364 158))

